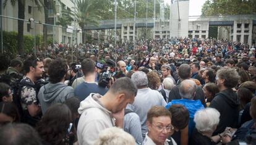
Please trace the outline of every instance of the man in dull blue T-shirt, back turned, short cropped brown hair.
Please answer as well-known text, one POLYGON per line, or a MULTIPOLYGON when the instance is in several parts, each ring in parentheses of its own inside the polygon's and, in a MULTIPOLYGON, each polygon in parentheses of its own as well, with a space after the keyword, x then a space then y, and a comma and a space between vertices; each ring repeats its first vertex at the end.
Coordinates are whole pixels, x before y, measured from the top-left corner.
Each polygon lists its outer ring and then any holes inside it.
MULTIPOLYGON (((83 101, 90 93, 99 93, 104 95, 108 89, 98 86, 95 81, 96 78, 96 66, 92 59, 84 59, 81 64, 84 80, 82 83, 76 86, 75 96, 83 101)), ((75 81, 74 81, 75 83, 75 81)))

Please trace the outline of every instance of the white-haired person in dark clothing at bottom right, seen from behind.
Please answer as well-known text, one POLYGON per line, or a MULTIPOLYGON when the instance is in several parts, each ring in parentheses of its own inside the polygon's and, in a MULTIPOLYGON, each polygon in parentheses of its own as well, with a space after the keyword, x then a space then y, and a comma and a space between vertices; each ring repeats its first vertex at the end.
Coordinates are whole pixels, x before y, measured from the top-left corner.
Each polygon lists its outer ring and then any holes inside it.
POLYGON ((220 112, 213 108, 198 110, 194 116, 195 129, 190 138, 190 145, 213 145, 221 140, 221 135, 213 136, 218 123, 220 112))

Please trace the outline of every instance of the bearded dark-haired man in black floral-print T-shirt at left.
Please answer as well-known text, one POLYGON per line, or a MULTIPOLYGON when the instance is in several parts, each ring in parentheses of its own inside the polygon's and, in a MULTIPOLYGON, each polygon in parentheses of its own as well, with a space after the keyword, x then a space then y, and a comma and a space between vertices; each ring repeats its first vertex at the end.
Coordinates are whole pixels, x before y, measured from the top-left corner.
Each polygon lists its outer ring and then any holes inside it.
POLYGON ((23 62, 25 77, 20 81, 19 93, 22 105, 22 122, 35 126, 40 120, 41 108, 38 105, 36 81, 42 78, 45 69, 43 62, 36 58, 28 58, 23 62))

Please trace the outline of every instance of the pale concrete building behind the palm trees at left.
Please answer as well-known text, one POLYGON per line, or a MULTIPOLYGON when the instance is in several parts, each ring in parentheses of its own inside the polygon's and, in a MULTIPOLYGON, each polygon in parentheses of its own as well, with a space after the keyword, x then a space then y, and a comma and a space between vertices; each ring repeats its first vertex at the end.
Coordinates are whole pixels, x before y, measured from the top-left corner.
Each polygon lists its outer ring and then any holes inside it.
MULTIPOLYGON (((56 4, 56 23, 58 22, 59 17, 62 17, 62 9, 70 9, 74 10, 74 3, 71 0, 61 0, 55 1, 56 4)), ((54 25, 54 12, 53 9, 48 9, 48 20, 49 24, 54 25)), ((18 2, 15 2, 15 5, 12 6, 11 1, 7 1, 6 7, 3 9, 3 14, 7 17, 13 17, 18 18, 18 2)), ((40 9, 38 9, 38 6, 36 6, 35 2, 33 0, 26 0, 25 1, 25 20, 28 20, 30 18, 33 18, 35 22, 41 22, 45 23, 45 13, 43 6, 40 5, 40 9)), ((3 21, 3 30, 4 31, 18 31, 18 21, 15 19, 10 18, 2 18, 3 21)), ((71 25, 74 27, 75 23, 72 22, 71 25)), ((57 26, 57 25, 56 25, 57 26)), ((59 25, 60 26, 60 25, 59 25)), ((48 39, 53 38, 53 26, 48 26, 48 39)), ((74 27, 75 28, 75 27, 74 27)), ((79 28, 79 25, 76 25, 76 28, 79 28)), ((77 33, 76 31, 73 31, 73 33, 70 33, 71 31, 66 31, 66 28, 59 28, 55 27, 55 41, 57 43, 76 43, 75 38, 77 39, 78 43, 82 42, 82 33, 77 33), (72 39, 74 41, 72 42, 72 39)), ((43 35, 43 25, 40 23, 35 23, 35 27, 33 29, 30 29, 30 23, 24 22, 23 25, 23 35, 43 35)))

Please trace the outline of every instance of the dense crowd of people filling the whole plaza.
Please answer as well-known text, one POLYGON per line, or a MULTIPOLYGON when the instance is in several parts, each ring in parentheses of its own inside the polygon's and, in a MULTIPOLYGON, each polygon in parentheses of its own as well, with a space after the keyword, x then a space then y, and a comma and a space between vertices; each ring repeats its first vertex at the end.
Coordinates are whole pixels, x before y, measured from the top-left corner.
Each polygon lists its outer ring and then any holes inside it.
POLYGON ((0 144, 256 144, 254 45, 175 38, 132 46, 1 56, 0 144))

